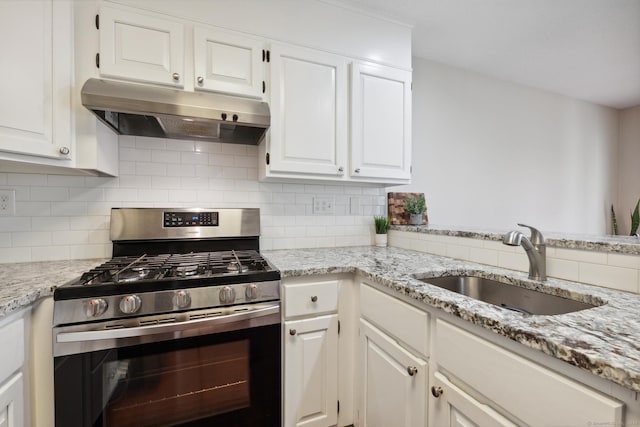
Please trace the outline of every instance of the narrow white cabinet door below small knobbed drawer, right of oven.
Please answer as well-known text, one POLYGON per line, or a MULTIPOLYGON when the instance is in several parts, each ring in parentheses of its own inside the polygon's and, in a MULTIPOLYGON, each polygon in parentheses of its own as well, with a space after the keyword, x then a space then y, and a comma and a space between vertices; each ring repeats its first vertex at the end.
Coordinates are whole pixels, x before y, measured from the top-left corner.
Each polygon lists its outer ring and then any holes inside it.
POLYGON ((338 419, 338 315, 285 322, 285 427, 338 419))

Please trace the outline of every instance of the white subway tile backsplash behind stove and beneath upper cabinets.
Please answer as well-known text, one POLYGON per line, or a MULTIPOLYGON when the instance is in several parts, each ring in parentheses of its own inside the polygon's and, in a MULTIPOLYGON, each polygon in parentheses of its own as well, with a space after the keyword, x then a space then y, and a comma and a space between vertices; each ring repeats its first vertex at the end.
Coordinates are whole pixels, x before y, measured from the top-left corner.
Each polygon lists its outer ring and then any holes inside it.
POLYGON ((0 171, 16 215, 0 217, 0 263, 111 256, 112 207, 258 207, 261 248, 369 245, 384 187, 258 181, 255 146, 120 137, 117 178, 0 171), (314 198, 334 202, 315 214, 314 198))

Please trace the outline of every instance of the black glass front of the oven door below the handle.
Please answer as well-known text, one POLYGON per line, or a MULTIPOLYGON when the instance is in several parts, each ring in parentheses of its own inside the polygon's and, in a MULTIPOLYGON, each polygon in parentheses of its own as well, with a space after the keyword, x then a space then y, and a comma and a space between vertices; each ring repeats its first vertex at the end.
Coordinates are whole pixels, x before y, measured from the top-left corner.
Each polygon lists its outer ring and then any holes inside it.
POLYGON ((280 426, 279 331, 58 357, 56 426, 280 426))

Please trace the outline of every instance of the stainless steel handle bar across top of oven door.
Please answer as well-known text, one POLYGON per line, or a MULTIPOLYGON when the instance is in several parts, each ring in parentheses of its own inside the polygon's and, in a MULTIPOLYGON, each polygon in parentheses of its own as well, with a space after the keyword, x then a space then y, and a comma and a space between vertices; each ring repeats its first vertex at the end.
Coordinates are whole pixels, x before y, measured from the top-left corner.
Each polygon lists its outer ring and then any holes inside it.
POLYGON ((215 329, 215 332, 226 332, 238 329, 238 322, 244 322, 245 327, 262 326, 280 321, 280 304, 271 304, 249 311, 232 313, 223 316, 207 317, 204 319, 187 320, 184 322, 166 323, 159 325, 134 326, 130 328, 103 329, 98 331, 58 332, 56 342, 74 343, 86 341, 113 340, 121 338, 142 338, 153 335, 174 333, 177 337, 191 336, 190 331, 215 329), (277 315, 274 322, 264 323, 261 318, 277 315))

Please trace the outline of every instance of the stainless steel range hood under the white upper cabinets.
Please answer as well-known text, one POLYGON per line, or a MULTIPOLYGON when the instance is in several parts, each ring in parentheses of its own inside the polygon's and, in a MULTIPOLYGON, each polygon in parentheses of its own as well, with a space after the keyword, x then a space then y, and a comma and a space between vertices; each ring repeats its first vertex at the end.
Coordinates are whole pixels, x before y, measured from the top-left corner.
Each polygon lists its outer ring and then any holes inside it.
POLYGON ((89 79, 82 105, 121 135, 257 145, 269 127, 269 105, 210 92, 89 79))

